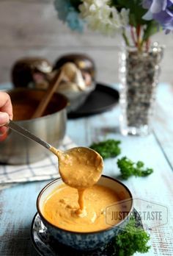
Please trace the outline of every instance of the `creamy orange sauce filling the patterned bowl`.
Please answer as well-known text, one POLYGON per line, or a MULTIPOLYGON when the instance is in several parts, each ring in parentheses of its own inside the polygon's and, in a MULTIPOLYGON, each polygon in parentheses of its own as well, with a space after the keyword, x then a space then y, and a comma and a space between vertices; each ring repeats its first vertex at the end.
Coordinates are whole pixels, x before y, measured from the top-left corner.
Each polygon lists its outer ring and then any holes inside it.
MULTIPOLYGON (((117 193, 101 185, 93 185, 84 191, 84 210, 78 213, 78 191, 63 184, 54 190, 43 205, 43 216, 64 230, 76 232, 93 232, 105 230, 106 207, 119 201, 117 193)), ((121 206, 116 205, 117 212, 121 206)), ((118 220, 114 221, 116 224, 118 220)))

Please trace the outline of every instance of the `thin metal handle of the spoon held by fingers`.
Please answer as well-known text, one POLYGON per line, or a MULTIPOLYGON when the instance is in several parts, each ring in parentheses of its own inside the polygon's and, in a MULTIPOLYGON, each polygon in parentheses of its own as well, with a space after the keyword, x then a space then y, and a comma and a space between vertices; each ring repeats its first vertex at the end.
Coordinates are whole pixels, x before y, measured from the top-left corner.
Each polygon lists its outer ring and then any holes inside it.
POLYGON ((27 129, 21 127, 18 124, 15 124, 15 122, 13 121, 9 121, 9 123, 7 124, 7 127, 10 127, 10 129, 13 129, 15 132, 20 133, 21 135, 25 136, 26 138, 30 138, 32 141, 36 141, 37 143, 40 143, 42 146, 44 146, 46 149, 51 149, 51 145, 48 144, 45 141, 42 141, 40 138, 38 138, 37 136, 33 135, 31 132, 29 132, 27 129))

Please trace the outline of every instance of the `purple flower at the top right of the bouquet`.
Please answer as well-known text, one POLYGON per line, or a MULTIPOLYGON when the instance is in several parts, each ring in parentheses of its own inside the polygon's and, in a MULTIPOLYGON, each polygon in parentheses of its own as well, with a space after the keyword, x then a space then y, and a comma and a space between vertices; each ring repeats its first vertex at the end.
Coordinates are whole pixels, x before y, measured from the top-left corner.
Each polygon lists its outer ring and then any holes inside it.
POLYGON ((173 0, 143 0, 142 7, 148 9, 142 18, 158 21, 166 33, 173 30, 173 0))

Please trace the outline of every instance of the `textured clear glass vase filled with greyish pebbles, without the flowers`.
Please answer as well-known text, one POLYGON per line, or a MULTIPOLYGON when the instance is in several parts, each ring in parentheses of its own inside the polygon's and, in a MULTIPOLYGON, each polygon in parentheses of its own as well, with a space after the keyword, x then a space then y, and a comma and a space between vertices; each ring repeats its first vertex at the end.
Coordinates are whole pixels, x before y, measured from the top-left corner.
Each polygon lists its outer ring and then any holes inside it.
POLYGON ((148 135, 152 131, 155 93, 163 46, 154 43, 148 51, 126 47, 119 54, 120 132, 148 135))

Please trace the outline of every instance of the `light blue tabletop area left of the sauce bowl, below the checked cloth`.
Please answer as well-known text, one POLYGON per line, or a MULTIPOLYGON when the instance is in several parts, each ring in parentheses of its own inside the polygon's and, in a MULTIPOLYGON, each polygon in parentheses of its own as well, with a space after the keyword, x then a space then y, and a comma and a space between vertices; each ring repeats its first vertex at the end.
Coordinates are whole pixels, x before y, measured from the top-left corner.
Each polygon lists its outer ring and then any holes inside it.
POLYGON ((31 182, 0 191, 0 255, 37 255, 30 238, 37 194, 46 182, 31 182))

